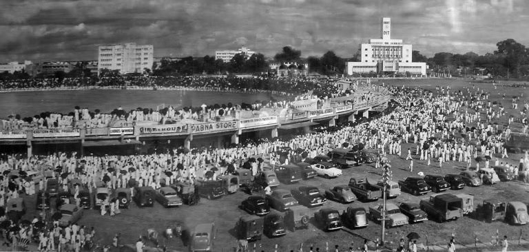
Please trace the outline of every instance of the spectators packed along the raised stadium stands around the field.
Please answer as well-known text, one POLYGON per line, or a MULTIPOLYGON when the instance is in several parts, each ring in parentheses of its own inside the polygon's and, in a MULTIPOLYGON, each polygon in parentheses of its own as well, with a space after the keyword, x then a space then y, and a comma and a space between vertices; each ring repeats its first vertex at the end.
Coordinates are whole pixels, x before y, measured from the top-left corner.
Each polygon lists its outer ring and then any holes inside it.
MULTIPOLYGON (((125 77, 120 77, 125 78, 125 77)), ((105 80, 106 78, 102 78, 105 80)), ((329 101, 329 98, 336 98, 340 96, 350 96, 351 93, 355 92, 357 89, 360 90, 369 90, 375 86, 366 85, 365 83, 360 85, 353 85, 351 90, 342 90, 333 83, 334 80, 320 78, 320 79, 309 79, 309 78, 282 78, 282 85, 277 84, 279 81, 276 78, 196 78, 196 77, 132 77, 129 83, 134 85, 143 85, 142 83, 147 83, 145 79, 150 80, 151 82, 158 83, 159 85, 164 85, 165 83, 178 83, 178 85, 184 87, 219 87, 225 89, 225 87, 230 87, 233 82, 236 90, 247 90, 246 87, 264 87, 272 90, 277 90, 279 87, 283 88, 285 86, 292 87, 292 90, 298 93, 297 96, 289 95, 282 92, 281 94, 287 98, 284 101, 262 101, 259 103, 242 103, 240 105, 232 105, 227 101, 226 104, 222 105, 201 105, 200 107, 182 107, 176 108, 173 106, 165 107, 160 110, 154 110, 149 108, 138 107, 127 112, 125 109, 118 107, 110 113, 103 113, 99 109, 95 109, 94 112, 91 112, 89 109, 76 106, 74 111, 68 114, 54 113, 54 112, 42 112, 41 114, 34 115, 32 117, 22 118, 19 115, 10 115, 7 119, 1 120, 1 126, 3 130, 17 130, 17 129, 64 129, 71 127, 85 127, 85 128, 96 128, 96 127, 112 127, 114 123, 120 122, 114 127, 123 125, 132 125, 132 122, 141 122, 141 121, 151 121, 159 124, 172 124, 178 123, 178 121, 183 119, 193 119, 205 121, 208 118, 214 120, 216 116, 228 116, 235 117, 236 112, 240 110, 259 110, 263 107, 270 107, 273 109, 278 108, 288 108, 291 106, 291 102, 299 101, 307 98, 318 98, 318 102, 329 101), (151 79, 152 78, 152 79, 151 79), (137 83, 134 80, 137 81, 137 83), (142 81, 143 80, 143 81, 142 81), (153 81, 154 80, 154 81, 153 81), (269 83, 275 83, 270 85, 269 83), (256 84, 261 83, 261 84, 256 84), (264 85, 262 83, 267 83, 264 85), (294 88, 295 87, 295 88, 294 88), (307 90, 302 90, 307 87, 314 87, 311 93, 307 93, 307 90), (297 91, 296 91, 297 90, 297 91)), ((43 79, 42 81, 46 82, 50 79, 43 79)), ((29 83, 33 83, 34 80, 25 80, 29 83)), ((54 80, 51 80, 54 83, 54 80)), ((72 83, 71 80, 66 83, 72 83)), ((132 85, 131 84, 131 85, 132 85)), ((24 87, 24 85, 22 85, 24 87)), ((39 86, 38 86, 39 87, 39 86)), ((370 90, 373 91, 373 90, 370 90)), ((377 96, 383 96, 384 90, 376 90, 377 92, 363 93, 360 98, 363 100, 369 98, 376 98, 377 96)))

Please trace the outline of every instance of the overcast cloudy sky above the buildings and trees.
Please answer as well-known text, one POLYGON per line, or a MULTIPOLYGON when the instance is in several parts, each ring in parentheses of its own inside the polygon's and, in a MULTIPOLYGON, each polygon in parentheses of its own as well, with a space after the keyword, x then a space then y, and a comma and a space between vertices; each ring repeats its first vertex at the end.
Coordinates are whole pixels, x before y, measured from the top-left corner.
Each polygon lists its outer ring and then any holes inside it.
POLYGON ((525 0, 1 0, 0 62, 96 60, 97 45, 154 45, 155 56, 214 55, 245 45, 273 56, 284 45, 302 56, 355 54, 380 37, 426 56, 493 52, 515 39, 529 45, 525 0))

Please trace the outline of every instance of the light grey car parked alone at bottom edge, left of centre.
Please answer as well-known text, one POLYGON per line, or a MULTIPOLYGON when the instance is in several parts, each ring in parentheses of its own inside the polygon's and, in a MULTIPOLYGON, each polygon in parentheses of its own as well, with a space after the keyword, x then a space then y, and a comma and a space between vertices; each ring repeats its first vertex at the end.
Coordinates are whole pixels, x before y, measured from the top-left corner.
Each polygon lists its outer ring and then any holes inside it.
POLYGON ((215 223, 196 225, 189 238, 189 250, 191 252, 216 251, 213 247, 216 234, 215 223))

